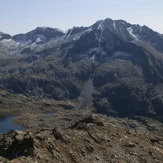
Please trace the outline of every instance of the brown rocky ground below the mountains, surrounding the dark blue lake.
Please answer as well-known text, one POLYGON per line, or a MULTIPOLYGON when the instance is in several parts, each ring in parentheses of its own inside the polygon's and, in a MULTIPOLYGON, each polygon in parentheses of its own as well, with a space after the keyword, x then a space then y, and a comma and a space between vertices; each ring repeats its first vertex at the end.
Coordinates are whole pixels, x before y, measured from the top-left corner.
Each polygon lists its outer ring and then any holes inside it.
POLYGON ((18 115, 14 122, 26 130, 0 134, 1 162, 163 161, 163 124, 157 120, 93 114, 89 109, 75 109, 70 101, 22 97, 12 108, 7 105, 1 114, 18 115))

